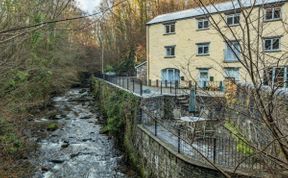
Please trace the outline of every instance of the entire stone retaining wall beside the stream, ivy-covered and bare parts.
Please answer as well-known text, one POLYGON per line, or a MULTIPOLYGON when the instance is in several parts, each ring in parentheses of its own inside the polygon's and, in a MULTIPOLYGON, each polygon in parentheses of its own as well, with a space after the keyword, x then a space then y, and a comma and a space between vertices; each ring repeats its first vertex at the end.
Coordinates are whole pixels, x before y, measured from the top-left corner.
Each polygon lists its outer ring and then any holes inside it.
MULTIPOLYGON (((139 171, 141 177, 224 177, 213 167, 208 167, 191 160, 183 154, 179 154, 177 150, 173 150, 171 146, 164 143, 139 125, 139 113, 135 110, 140 108, 138 100, 143 101, 143 98, 122 90, 116 85, 98 79, 93 80, 92 88, 94 95, 99 100, 97 102, 104 106, 102 112, 104 112, 103 114, 108 117, 108 124, 110 123, 109 129, 113 131, 111 133, 116 133, 114 134, 115 137, 122 137, 120 140, 123 142, 123 150, 126 152, 129 162, 139 171), (113 108, 113 113, 111 113, 111 107, 113 108), (123 112, 123 108, 125 112, 123 112), (118 115, 116 113, 118 113, 118 115), (115 116, 115 114, 117 116, 115 116), (115 117, 117 118, 116 120, 115 117), (118 124, 111 124, 112 121, 123 122, 125 126, 124 128, 122 126, 115 127, 114 125, 117 126, 118 124)), ((158 103, 154 101, 154 105, 151 105, 150 108, 157 110, 159 109, 158 106, 163 105, 164 100, 161 97, 154 98, 154 100, 158 100, 158 103)), ((165 111, 162 115, 163 114, 165 115, 165 111)))

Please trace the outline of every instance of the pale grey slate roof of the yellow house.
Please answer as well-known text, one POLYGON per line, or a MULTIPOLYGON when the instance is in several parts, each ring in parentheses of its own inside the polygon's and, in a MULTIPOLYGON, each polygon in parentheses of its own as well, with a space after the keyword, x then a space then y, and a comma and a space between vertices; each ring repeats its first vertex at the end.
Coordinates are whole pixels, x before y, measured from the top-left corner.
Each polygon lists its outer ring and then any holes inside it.
MULTIPOLYGON (((265 4, 271 4, 271 3, 282 3, 286 2, 287 0, 240 0, 242 3, 242 7, 251 7, 253 6, 255 2, 255 6, 261 6, 265 4)), ((151 21, 147 23, 147 25, 162 23, 162 22, 169 22, 179 19, 185 19, 185 18, 192 18, 196 16, 201 16, 209 13, 217 13, 217 12, 224 12, 229 10, 235 10, 239 9, 240 5, 237 0, 234 1, 228 1, 224 3, 214 4, 206 6, 206 9, 204 7, 198 7, 194 9, 188 9, 168 14, 159 15, 155 18, 153 18, 151 21)))

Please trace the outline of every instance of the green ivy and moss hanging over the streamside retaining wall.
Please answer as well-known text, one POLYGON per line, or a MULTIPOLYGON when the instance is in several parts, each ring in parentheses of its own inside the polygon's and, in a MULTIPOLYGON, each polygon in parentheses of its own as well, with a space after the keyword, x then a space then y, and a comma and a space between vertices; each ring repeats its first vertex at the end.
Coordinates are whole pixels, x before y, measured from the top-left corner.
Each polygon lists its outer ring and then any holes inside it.
POLYGON ((115 136, 130 165, 141 177, 147 177, 143 161, 133 144, 140 98, 95 78, 92 79, 92 93, 102 114, 107 118, 101 132, 115 136))

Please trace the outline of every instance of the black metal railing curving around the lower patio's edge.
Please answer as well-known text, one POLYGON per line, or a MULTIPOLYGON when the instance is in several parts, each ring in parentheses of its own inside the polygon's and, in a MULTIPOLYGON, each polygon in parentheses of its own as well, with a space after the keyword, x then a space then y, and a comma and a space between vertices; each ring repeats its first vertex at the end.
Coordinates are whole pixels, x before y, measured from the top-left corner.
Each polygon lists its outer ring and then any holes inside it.
MULTIPOLYGON (((151 117, 141 111, 139 123, 154 136, 169 145, 170 148, 201 164, 214 164, 223 169, 245 171, 246 173, 263 171, 267 164, 255 154, 255 150, 240 139, 220 136, 197 136, 180 127, 169 126, 165 120, 151 117), (191 139, 187 139, 187 135, 191 139)), ((271 163, 270 169, 275 168, 271 163)))

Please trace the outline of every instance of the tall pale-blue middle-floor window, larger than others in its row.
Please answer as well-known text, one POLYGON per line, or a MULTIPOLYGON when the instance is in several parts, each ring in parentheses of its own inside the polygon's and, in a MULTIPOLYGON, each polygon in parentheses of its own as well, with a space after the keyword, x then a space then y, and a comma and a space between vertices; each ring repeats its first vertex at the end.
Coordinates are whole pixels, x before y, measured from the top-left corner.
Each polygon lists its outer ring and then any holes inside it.
POLYGON ((224 54, 225 62, 235 62, 241 57, 241 47, 238 41, 231 41, 226 43, 226 49, 224 54))

